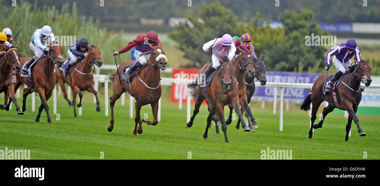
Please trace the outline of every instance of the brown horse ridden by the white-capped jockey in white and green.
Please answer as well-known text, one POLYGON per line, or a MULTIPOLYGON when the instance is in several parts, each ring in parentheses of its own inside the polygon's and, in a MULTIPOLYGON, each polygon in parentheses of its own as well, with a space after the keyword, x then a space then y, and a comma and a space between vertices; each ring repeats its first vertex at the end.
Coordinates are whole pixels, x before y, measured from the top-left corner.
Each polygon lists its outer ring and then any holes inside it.
MULTIPOLYGON (((21 58, 21 65, 23 66, 28 60, 30 60, 30 58, 21 58)), ((36 90, 40 96, 41 105, 38 110, 36 122, 40 122, 41 113, 45 109, 47 114, 47 122, 51 123, 49 116, 49 105, 47 105, 47 100, 49 100, 51 97, 55 83, 57 82, 54 74, 55 65, 62 67, 62 48, 59 43, 52 45, 46 56, 44 58, 38 59, 35 62, 34 67, 30 68, 32 69, 32 74, 30 77, 32 84, 30 84, 28 77, 17 78, 20 79, 20 81, 17 80, 16 89, 18 89, 22 83, 25 83, 28 86, 24 89, 22 111, 26 110, 26 98, 30 93, 36 90), (34 89, 32 88, 32 85, 34 89)), ((21 75, 21 72, 19 75, 21 75)))

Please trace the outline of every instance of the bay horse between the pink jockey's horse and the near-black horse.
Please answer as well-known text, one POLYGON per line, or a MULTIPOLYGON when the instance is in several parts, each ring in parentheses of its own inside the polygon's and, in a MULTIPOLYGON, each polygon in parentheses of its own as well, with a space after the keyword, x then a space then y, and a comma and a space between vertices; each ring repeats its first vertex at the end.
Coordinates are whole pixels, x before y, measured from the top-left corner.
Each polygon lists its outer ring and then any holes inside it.
MULTIPOLYGON (((249 76, 253 78, 255 74, 255 68, 253 67, 253 61, 255 57, 252 56, 251 52, 244 52, 241 55, 239 55, 237 58, 234 58, 232 60, 232 63, 234 65, 234 74, 236 75, 236 80, 239 83, 238 87, 239 90, 237 94, 239 95, 239 103, 241 105, 241 112, 245 113, 245 117, 247 118, 253 118, 251 108, 248 105, 247 102, 247 95, 246 92, 246 84, 245 84, 245 76, 249 76)), ((208 65, 208 64, 205 64, 208 65)), ((209 107, 209 110, 211 109, 211 101, 206 99, 207 106, 209 107)), ((229 105, 230 106, 230 105, 229 105)), ((230 112, 232 112, 232 109, 234 107, 231 105, 230 112)), ((219 120, 219 117, 217 114, 214 115, 215 123, 217 123, 219 120)), ((252 119, 251 119, 252 121, 252 119)), ((231 122, 230 122, 231 123, 231 122)), ((226 121, 226 124, 227 121, 226 121)), ((250 131, 255 132, 255 129, 253 129, 251 123, 248 121, 248 127, 250 128, 250 131)), ((215 125, 216 133, 219 134, 219 127, 218 125, 215 125)))

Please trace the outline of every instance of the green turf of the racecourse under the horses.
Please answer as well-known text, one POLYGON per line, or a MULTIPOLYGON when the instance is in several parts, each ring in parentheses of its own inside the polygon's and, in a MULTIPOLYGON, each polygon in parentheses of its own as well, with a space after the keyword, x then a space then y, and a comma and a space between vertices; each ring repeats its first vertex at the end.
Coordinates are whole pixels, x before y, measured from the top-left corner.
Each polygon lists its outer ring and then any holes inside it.
MULTIPOLYGON (((56 121, 52 99, 49 100, 53 124, 47 123, 45 111, 40 122, 35 122, 37 113, 31 112, 30 97, 27 111, 22 116, 16 114, 14 105, 11 111, 1 110, 0 149, 30 149, 31 159, 100 159, 100 152, 104 152, 104 159, 188 159, 189 151, 192 159, 260 159, 260 151, 267 147, 291 149, 293 159, 363 159, 364 151, 368 159, 380 159, 380 116, 377 115, 359 114, 361 128, 367 136, 359 137, 353 123, 351 137, 344 141, 347 119, 343 114, 331 113, 323 128, 315 129, 313 138, 308 139, 308 112, 295 108, 284 111, 283 132, 280 132, 279 111, 272 114, 269 104, 261 110, 261 103, 251 103, 260 128, 256 132, 243 132, 236 130, 236 121, 233 121, 227 130, 230 143, 225 143, 223 134, 215 134, 214 126, 209 130, 208 138, 203 139, 208 115, 205 105, 201 106, 193 127, 186 129, 186 104, 179 110, 177 103, 164 97, 161 122, 157 126, 143 123, 144 132, 134 137, 135 122, 129 118, 128 97, 124 106, 120 100, 116 102, 114 130, 107 131, 110 116, 104 114, 103 93, 99 91, 100 113, 95 111, 92 96, 84 93, 83 116, 78 118, 73 117, 73 109, 68 108, 62 96, 59 97, 60 121, 56 121)), ((111 93, 110 90, 109 95, 111 93)), ((22 103, 21 98, 17 101, 22 103)), ((40 100, 37 98, 36 102, 39 105, 40 100)), ((149 105, 144 106, 141 113, 147 113, 152 120, 149 105)))

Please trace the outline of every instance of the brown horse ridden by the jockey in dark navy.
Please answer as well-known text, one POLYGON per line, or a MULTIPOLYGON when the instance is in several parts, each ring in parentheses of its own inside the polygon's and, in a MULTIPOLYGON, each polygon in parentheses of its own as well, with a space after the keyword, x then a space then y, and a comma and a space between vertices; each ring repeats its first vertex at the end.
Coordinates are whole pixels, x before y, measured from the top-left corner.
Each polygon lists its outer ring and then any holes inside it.
MULTIPOLYGON (((67 59, 63 59, 63 61, 66 61, 67 59)), ((94 64, 96 64, 98 67, 101 67, 102 63, 103 62, 100 59, 100 51, 98 50, 98 45, 96 46, 89 45, 88 55, 84 57, 82 62, 79 62, 73 65, 73 68, 72 68, 73 70, 71 70, 69 74, 70 80, 67 77, 63 76, 63 73, 58 69, 58 67, 55 67, 55 76, 57 77, 59 86, 62 89, 63 97, 69 103, 69 107, 74 108, 74 117, 76 117, 76 109, 74 107, 76 103, 76 95, 79 94, 79 104, 77 105, 77 107, 82 107, 83 94, 81 91, 86 91, 86 90, 95 95, 96 103, 97 103, 96 111, 100 112, 100 105, 99 105, 100 102, 98 99, 98 92, 95 91, 94 89, 92 67, 94 64), (73 90, 73 103, 71 103, 70 100, 68 99, 65 83, 67 83, 68 86, 70 86, 71 89, 73 90)))

